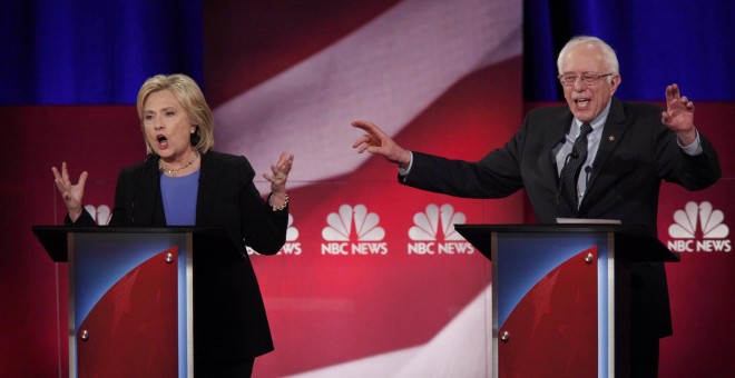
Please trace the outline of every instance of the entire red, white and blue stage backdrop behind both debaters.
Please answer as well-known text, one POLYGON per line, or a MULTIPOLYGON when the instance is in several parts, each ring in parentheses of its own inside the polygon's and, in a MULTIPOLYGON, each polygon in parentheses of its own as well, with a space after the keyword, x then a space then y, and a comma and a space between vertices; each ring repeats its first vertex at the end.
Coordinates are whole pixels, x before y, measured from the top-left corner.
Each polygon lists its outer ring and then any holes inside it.
POLYGON ((682 83, 721 152, 724 179, 712 189, 663 187, 659 237, 683 261, 667 267, 675 335, 663 341, 660 371, 728 374, 735 99, 718 89, 732 87, 724 67, 735 59, 727 23, 700 18, 733 6, 707 2, 654 11, 529 0, 523 16, 509 0, 3 3, 0 28, 12 38, 0 46, 14 59, 0 70, 9 137, 0 376, 68 375, 66 266, 30 232, 63 219, 50 167, 89 171, 86 202, 105 223, 118 170, 145 156, 137 88, 183 71, 215 110, 217 149, 247 156, 258 172, 283 150, 296 155, 287 242, 277 256, 252 251, 276 345, 254 376, 488 377, 490 263, 451 225, 530 221, 523 193, 479 201, 404 188, 394 167, 351 149, 360 133, 349 122, 372 120, 411 149, 479 159, 526 110, 556 105, 555 56, 574 33, 618 50, 625 100, 663 103, 664 86, 682 83), (639 21, 653 13, 677 28, 639 21), (700 40, 707 49, 689 51, 700 40), (545 102, 523 106, 521 88, 545 102))

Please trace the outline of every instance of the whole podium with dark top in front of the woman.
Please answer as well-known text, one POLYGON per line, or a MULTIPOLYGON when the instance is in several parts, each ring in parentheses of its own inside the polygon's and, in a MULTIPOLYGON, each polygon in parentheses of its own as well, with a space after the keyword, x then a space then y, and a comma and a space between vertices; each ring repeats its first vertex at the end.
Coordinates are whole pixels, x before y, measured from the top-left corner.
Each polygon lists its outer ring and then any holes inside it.
POLYGON ((193 377, 196 250, 239 252, 200 227, 33 226, 69 271, 70 377, 193 377), (224 248, 223 248, 224 247, 224 248))

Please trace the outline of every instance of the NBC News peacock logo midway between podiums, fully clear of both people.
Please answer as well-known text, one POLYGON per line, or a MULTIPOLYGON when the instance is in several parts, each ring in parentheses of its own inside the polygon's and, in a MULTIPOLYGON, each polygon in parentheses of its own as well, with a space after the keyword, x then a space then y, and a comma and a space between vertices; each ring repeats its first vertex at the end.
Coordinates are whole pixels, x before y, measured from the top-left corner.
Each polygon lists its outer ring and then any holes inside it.
POLYGON ((385 230, 379 223, 380 217, 369 212, 364 205, 342 205, 337 212, 326 217, 322 255, 388 255, 388 245, 382 241, 385 230))

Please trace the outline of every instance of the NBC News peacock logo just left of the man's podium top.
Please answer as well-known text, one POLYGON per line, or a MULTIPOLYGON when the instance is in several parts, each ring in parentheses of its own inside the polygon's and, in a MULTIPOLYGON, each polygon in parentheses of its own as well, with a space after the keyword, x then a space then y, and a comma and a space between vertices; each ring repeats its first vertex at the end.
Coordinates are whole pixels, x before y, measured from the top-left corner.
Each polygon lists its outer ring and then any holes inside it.
POLYGON ((427 206, 424 212, 413 216, 413 226, 409 229, 409 255, 472 255, 474 248, 454 229, 455 223, 464 223, 467 217, 455 212, 444 203, 441 208, 434 203, 427 206))

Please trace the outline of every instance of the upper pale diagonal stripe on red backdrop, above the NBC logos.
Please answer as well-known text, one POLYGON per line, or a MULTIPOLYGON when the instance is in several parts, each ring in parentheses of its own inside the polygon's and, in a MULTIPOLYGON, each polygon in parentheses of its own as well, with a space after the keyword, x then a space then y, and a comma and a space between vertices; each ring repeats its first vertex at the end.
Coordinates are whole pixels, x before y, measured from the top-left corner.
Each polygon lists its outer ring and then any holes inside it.
POLYGON ((521 19, 513 0, 403 1, 215 109, 217 148, 257 172, 294 152, 291 188, 350 172, 364 161, 350 121, 395 135, 461 78, 519 56, 521 19))

